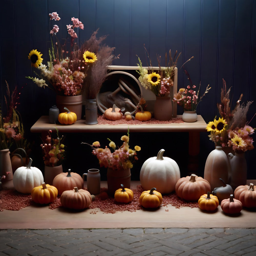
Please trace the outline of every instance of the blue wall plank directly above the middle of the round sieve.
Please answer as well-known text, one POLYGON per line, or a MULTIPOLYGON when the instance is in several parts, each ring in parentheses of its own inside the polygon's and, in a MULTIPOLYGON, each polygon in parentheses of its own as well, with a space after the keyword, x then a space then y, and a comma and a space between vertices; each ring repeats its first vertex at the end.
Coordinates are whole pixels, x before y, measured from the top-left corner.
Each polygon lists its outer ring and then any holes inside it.
POLYGON ((114 65, 130 66, 131 1, 114 1, 114 65))

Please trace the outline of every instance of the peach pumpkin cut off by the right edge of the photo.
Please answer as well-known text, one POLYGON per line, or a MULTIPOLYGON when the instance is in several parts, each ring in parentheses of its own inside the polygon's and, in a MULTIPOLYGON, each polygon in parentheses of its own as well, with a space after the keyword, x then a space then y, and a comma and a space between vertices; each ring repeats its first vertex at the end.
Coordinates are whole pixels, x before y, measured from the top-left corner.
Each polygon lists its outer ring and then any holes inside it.
POLYGON ((241 201, 244 207, 256 207, 256 186, 238 186, 234 191, 234 198, 241 201))

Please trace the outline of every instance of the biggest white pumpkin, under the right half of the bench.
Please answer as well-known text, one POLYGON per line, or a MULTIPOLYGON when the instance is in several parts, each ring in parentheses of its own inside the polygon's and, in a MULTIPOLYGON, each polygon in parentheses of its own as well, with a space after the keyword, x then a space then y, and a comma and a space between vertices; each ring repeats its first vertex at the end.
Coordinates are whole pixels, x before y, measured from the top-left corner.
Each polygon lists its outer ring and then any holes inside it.
POLYGON ((141 167, 140 181, 145 190, 156 188, 161 194, 168 194, 175 190, 180 179, 178 164, 169 157, 163 157, 161 149, 157 157, 148 158, 141 167))

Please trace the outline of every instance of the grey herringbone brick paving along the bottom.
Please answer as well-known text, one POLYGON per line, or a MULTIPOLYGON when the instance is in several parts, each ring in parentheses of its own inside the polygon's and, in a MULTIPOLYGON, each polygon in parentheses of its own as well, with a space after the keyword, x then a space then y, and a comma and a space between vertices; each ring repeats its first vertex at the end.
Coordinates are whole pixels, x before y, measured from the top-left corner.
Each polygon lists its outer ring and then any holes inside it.
POLYGON ((5 255, 256 255, 256 228, 0 230, 5 255))

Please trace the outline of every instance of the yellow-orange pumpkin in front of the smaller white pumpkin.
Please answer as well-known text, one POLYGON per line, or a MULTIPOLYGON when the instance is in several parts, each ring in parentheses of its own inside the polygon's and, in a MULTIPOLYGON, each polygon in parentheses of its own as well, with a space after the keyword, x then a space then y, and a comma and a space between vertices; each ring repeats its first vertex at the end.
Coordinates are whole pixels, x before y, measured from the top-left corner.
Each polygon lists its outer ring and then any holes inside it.
POLYGON ((42 183, 41 186, 34 187, 31 191, 32 200, 38 204, 49 204, 58 196, 56 187, 42 183))

